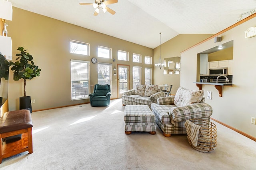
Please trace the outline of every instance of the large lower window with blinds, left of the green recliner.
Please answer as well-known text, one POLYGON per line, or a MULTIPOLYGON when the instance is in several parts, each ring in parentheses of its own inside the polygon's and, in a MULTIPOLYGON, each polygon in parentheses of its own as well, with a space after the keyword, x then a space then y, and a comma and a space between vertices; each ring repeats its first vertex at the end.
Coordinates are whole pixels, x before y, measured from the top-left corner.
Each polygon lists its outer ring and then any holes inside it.
POLYGON ((71 100, 89 98, 90 62, 71 60, 71 100))

